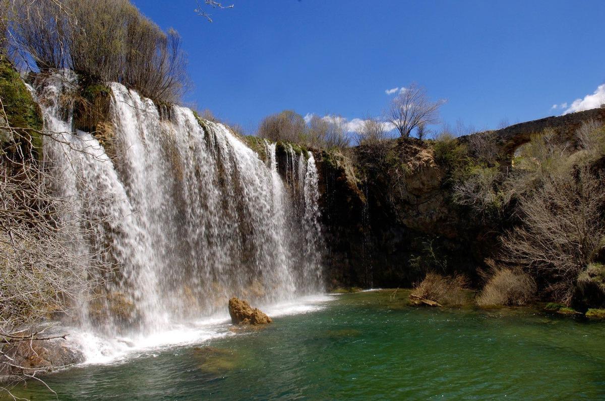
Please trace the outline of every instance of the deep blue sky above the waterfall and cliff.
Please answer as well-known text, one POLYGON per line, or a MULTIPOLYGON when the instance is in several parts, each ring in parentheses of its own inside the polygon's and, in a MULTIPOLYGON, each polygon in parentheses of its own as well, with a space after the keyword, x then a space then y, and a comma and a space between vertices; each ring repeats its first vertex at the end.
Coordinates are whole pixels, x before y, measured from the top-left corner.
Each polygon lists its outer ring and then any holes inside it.
POLYGON ((183 37, 185 100, 246 129, 283 109, 379 115, 411 82, 448 100, 443 121, 494 128, 605 83, 605 1, 231 0, 212 23, 195 0, 134 3, 183 37))

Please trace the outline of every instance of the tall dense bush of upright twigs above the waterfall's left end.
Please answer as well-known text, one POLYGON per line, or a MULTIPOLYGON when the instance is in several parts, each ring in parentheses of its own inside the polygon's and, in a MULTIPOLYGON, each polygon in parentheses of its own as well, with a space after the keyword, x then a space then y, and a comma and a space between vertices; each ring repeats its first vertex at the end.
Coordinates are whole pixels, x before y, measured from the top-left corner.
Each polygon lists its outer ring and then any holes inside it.
POLYGON ((128 0, 16 0, 5 7, 11 54, 22 65, 73 69, 156 101, 177 101, 185 89, 178 33, 162 31, 128 0))

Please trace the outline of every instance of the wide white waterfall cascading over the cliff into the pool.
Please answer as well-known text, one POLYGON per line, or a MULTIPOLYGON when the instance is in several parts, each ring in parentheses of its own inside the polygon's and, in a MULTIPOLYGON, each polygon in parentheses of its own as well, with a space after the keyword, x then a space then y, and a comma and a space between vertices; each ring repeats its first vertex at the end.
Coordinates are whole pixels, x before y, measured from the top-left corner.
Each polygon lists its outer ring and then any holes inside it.
POLYGON ((100 143, 74 130, 73 110, 61 104, 75 85, 63 72, 33 91, 54 132, 44 144, 53 189, 77 204, 65 218, 98 222, 78 243, 116 266, 102 297, 83 297, 82 326, 153 333, 223 311, 232 296, 270 304, 322 291, 312 153, 287 146, 282 176, 275 143, 263 161, 222 124, 180 106, 160 113, 119 83, 112 138, 100 143))

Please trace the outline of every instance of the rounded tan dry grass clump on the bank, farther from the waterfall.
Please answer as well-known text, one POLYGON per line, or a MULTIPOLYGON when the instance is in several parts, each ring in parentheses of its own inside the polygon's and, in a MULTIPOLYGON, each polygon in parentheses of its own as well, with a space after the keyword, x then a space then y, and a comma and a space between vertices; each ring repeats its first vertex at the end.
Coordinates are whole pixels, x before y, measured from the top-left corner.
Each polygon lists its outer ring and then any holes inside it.
POLYGON ((534 297, 534 279, 521 269, 495 268, 477 298, 479 306, 519 306, 534 297))

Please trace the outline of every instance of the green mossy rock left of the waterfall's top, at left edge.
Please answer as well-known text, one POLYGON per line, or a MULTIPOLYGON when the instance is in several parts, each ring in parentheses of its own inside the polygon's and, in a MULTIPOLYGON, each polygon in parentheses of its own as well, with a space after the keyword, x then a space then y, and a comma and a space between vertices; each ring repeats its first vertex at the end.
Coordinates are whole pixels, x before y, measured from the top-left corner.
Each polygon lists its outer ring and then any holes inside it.
MULTIPOLYGON (((25 145, 31 142, 31 149, 25 149, 34 155, 42 151, 42 113, 31 97, 30 91, 19 76, 19 72, 4 57, 0 56, 0 98, 8 118, 8 124, 16 130, 16 138, 8 138, 4 133, 2 148, 6 141, 15 141, 25 145)), ((27 146, 28 148, 29 146, 27 146)))

